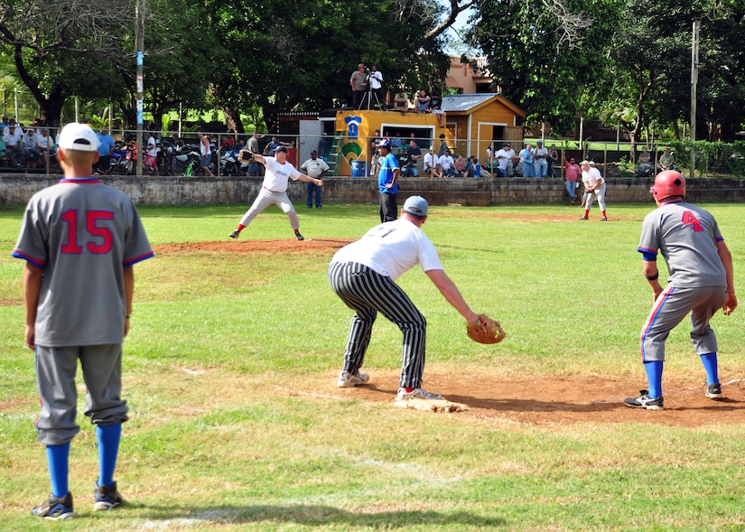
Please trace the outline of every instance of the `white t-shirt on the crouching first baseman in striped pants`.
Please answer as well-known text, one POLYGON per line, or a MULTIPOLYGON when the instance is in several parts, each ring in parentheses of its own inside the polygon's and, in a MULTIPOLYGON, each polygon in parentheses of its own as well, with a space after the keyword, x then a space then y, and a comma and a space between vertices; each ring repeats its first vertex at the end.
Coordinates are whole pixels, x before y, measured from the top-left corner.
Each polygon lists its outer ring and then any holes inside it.
POLYGON ((368 266, 394 281, 417 264, 424 272, 442 270, 432 241, 422 229, 403 218, 377 225, 357 242, 342 247, 331 259, 331 264, 344 262, 368 266))

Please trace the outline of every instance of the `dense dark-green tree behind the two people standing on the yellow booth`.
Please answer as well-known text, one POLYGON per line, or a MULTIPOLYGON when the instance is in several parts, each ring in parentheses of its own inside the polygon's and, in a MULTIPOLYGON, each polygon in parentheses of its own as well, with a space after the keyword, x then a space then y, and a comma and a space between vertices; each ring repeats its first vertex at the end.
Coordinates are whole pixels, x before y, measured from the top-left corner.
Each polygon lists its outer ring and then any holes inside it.
POLYGON ((340 105, 360 61, 377 64, 387 87, 439 84, 447 69, 442 39, 428 36, 442 13, 432 0, 211 0, 208 9, 220 45, 236 51, 214 70, 216 104, 256 102, 270 128, 280 111, 340 105))

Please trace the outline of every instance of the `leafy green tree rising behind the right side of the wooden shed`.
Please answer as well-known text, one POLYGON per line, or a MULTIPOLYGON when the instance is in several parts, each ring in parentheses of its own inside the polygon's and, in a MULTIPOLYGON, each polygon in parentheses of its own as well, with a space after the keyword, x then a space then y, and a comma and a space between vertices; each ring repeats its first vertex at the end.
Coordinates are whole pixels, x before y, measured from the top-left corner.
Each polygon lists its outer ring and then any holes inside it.
POLYGON ((484 51, 503 96, 526 123, 573 129, 580 99, 602 76, 619 20, 615 0, 478 0, 467 37, 484 51))

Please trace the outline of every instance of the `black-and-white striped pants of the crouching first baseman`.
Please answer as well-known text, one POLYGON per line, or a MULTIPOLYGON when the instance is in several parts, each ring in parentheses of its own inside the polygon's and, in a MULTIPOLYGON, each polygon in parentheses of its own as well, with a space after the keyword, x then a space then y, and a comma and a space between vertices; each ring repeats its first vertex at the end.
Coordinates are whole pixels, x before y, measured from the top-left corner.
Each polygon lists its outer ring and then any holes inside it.
POLYGON ((379 312, 404 333, 399 385, 422 387, 427 321, 409 296, 390 277, 354 262, 332 263, 329 283, 341 301, 356 312, 349 327, 343 370, 352 375, 359 372, 379 312))

